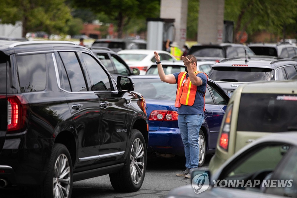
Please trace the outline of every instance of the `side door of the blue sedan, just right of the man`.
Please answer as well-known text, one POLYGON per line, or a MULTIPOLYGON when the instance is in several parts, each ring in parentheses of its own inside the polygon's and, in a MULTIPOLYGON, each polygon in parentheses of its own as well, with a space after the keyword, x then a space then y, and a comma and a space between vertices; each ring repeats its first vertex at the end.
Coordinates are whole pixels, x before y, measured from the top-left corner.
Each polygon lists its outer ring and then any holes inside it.
POLYGON ((209 129, 208 148, 216 147, 223 115, 229 101, 228 95, 218 85, 208 81, 205 93, 205 117, 209 129))

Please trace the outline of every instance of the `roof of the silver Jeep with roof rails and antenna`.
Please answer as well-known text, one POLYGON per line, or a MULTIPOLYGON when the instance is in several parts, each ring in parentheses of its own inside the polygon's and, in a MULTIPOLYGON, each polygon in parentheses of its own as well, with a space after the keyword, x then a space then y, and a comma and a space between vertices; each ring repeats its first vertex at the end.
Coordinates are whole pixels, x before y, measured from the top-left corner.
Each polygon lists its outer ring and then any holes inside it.
POLYGON ((233 67, 234 65, 248 65, 247 67, 259 67, 259 68, 272 68, 280 67, 282 65, 296 64, 297 62, 293 59, 274 59, 264 57, 258 59, 246 59, 245 58, 230 58, 222 59, 220 62, 215 63, 212 67, 233 67))

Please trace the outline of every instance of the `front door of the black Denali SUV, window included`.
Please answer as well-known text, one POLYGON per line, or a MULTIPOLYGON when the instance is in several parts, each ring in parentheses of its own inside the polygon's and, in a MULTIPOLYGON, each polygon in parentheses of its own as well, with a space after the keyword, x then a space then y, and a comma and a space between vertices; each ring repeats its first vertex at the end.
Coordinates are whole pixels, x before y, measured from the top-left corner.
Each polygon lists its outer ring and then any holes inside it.
POLYGON ((101 112, 99 129, 99 158, 94 167, 104 166, 99 162, 115 164, 124 155, 128 139, 128 107, 131 102, 119 97, 115 83, 98 60, 89 53, 81 53, 86 65, 92 90, 99 98, 101 112))

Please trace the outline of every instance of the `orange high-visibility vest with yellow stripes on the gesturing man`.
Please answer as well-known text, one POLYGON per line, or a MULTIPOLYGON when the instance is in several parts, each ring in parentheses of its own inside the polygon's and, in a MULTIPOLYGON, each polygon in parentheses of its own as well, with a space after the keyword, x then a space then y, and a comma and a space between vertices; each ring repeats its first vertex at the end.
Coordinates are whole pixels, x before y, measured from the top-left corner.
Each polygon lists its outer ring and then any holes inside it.
MULTIPOLYGON (((204 73, 200 71, 194 72, 196 75, 197 73, 204 73)), ((175 99, 175 107, 180 107, 181 104, 193 106, 195 101, 195 96, 197 92, 197 86, 192 86, 192 82, 189 78, 186 77, 187 72, 180 72, 178 74, 177 79, 177 90, 176 90, 176 99, 175 99)), ((206 79, 208 80, 208 76, 206 73, 204 73, 206 76, 206 79)), ((207 87, 207 84, 206 84, 207 87)), ((203 93, 203 99, 204 99, 204 108, 203 111, 205 111, 205 92, 202 92, 198 90, 199 92, 203 93)))

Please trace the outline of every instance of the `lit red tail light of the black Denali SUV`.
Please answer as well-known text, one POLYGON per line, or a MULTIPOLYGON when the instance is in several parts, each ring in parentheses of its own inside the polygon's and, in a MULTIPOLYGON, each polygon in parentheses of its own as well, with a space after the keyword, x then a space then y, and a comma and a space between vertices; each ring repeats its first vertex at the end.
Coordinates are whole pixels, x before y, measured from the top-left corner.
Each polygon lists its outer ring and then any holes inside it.
POLYGON ((26 108, 24 100, 18 96, 7 96, 7 131, 16 131, 24 128, 26 108))

